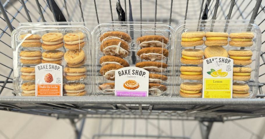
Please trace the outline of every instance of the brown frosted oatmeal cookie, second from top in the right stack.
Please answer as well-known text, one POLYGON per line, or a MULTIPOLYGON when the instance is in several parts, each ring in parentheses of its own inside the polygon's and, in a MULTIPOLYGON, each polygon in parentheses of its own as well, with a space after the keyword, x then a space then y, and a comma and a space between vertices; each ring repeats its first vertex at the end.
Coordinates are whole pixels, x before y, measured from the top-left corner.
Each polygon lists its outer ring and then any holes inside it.
POLYGON ((144 60, 156 61, 164 60, 168 57, 169 52, 165 48, 148 47, 142 48, 137 52, 137 55, 144 60))

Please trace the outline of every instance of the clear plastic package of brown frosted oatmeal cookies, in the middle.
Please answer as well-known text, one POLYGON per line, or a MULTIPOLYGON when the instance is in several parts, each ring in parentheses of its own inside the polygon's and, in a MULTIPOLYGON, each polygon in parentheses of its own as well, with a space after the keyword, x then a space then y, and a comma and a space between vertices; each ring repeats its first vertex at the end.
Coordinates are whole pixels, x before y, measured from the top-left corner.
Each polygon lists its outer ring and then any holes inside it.
MULTIPOLYGON (((99 96, 171 97, 178 84, 174 30, 162 23, 94 28, 94 91, 99 96)), ((203 53, 201 53, 203 56, 203 53)))

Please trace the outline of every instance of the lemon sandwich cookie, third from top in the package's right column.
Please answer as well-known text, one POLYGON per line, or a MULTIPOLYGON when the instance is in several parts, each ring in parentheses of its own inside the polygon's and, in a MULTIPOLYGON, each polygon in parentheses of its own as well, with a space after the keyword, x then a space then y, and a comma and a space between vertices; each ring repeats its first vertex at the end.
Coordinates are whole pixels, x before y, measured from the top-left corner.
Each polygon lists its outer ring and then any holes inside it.
POLYGON ((234 67, 233 68, 233 80, 248 81, 251 78, 250 67, 234 67))

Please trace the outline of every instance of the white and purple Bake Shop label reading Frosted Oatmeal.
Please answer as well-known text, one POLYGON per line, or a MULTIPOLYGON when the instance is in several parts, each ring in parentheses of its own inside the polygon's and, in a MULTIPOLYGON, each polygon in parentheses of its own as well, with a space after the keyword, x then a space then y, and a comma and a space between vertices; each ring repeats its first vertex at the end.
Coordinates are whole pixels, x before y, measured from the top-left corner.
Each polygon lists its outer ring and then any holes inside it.
POLYGON ((115 96, 148 97, 149 71, 125 67, 115 71, 115 96))

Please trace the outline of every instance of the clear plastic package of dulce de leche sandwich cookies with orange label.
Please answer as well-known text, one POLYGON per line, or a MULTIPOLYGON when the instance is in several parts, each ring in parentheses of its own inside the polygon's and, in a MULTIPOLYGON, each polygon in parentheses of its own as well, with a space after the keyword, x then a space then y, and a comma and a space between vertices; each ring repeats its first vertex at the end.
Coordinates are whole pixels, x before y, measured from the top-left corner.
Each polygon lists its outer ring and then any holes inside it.
POLYGON ((11 37, 15 94, 91 95, 90 37, 84 23, 21 23, 11 37))

